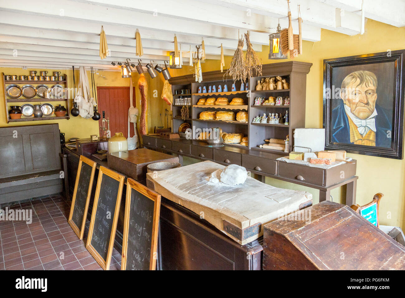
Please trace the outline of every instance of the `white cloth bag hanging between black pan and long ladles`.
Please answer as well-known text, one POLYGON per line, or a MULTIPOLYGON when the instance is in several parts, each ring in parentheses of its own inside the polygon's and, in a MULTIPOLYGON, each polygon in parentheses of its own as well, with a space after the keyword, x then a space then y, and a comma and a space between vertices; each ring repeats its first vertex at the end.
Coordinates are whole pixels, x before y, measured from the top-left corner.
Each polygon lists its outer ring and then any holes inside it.
POLYGON ((79 109, 79 115, 85 119, 92 118, 94 116, 94 105, 96 101, 90 97, 89 79, 84 66, 80 66, 80 77, 78 92, 75 97, 77 108, 79 109))

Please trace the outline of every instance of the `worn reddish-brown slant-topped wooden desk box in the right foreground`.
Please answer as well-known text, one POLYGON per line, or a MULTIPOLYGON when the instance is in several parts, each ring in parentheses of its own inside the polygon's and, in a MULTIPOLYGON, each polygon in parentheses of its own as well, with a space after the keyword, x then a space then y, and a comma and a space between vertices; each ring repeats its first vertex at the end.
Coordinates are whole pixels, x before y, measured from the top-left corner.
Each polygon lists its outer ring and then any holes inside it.
POLYGON ((350 207, 325 201, 264 225, 263 269, 403 270, 405 247, 350 207))

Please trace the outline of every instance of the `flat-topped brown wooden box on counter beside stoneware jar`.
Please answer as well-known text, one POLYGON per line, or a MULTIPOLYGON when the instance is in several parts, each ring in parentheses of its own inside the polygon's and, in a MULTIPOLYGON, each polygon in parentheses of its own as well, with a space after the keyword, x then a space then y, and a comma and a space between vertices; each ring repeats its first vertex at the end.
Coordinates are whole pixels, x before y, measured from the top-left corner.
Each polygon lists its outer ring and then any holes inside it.
POLYGON ((109 168, 138 181, 146 179, 147 165, 160 161, 178 163, 179 157, 146 148, 109 153, 107 155, 109 168))

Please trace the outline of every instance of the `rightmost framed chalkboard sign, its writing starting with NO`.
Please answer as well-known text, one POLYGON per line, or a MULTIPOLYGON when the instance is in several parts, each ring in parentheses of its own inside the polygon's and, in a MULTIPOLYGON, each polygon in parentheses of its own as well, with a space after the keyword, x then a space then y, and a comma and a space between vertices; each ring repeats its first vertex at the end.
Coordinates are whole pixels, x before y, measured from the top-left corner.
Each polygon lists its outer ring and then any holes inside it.
POLYGON ((160 195, 128 178, 121 270, 155 270, 160 195))

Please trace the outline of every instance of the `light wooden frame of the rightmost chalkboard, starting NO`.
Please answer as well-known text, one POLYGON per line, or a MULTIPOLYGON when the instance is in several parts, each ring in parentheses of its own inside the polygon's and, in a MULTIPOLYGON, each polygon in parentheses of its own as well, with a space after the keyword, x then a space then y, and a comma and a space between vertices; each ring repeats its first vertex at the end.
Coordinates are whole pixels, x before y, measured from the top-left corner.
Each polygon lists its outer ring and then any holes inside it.
POLYGON ((152 228, 152 240, 151 240, 151 255, 149 262, 149 270, 156 269, 156 258, 153 256, 157 252, 158 248, 158 232, 159 232, 159 218, 160 218, 160 199, 161 195, 145 187, 143 184, 136 182, 135 180, 128 178, 126 189, 126 202, 125 202, 125 217, 124 217, 124 237, 122 238, 122 259, 121 270, 126 269, 126 256, 128 250, 128 230, 129 230, 129 214, 131 207, 131 193, 132 191, 138 191, 145 197, 151 199, 154 202, 153 206, 153 228, 152 228))

